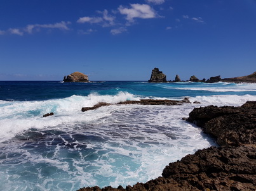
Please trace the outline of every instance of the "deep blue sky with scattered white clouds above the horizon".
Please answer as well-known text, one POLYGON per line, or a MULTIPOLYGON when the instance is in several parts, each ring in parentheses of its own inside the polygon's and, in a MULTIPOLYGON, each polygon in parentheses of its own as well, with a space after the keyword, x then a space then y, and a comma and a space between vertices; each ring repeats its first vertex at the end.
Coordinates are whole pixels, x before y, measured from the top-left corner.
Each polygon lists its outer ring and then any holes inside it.
POLYGON ((0 0, 0 80, 256 71, 255 0, 0 0))

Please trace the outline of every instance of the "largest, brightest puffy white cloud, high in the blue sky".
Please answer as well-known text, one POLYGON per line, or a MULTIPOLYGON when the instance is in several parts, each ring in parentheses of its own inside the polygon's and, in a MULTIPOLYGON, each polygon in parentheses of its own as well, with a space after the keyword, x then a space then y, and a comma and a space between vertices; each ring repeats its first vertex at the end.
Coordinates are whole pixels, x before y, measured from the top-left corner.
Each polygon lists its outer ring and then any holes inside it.
POLYGON ((126 20, 132 23, 134 18, 156 18, 157 14, 148 4, 130 4, 131 8, 119 6, 118 10, 122 15, 126 15, 126 20))

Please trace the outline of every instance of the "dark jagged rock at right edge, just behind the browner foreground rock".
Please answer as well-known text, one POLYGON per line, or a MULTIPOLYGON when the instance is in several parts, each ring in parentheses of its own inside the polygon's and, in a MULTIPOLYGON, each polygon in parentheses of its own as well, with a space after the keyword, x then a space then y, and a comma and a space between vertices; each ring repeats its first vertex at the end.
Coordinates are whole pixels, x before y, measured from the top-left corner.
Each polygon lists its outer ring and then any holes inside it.
POLYGON ((219 145, 256 144, 256 101, 248 101, 241 107, 194 108, 188 121, 217 137, 219 145))

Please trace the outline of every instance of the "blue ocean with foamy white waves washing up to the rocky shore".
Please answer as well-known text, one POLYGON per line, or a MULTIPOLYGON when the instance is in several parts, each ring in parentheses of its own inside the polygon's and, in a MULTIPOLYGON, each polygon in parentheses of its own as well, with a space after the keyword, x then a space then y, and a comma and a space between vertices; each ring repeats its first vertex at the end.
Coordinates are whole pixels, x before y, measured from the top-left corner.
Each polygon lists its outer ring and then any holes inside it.
POLYGON ((0 190, 118 187, 161 176, 166 165, 217 145, 182 120, 195 107, 256 101, 255 83, 0 81, 0 190), (182 100, 181 106, 98 102, 182 100), (53 116, 43 118, 43 114, 53 116))

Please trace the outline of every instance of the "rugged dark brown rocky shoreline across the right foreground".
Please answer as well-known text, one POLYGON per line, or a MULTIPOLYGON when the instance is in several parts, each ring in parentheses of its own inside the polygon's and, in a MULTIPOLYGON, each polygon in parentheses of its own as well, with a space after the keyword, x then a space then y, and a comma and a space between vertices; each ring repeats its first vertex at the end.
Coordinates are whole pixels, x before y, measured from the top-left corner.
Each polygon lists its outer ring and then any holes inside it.
MULTIPOLYGON (((179 103, 180 104, 180 103, 179 103)), ((216 137, 220 147, 209 147, 170 163, 162 176, 123 188, 107 190, 256 190, 256 101, 243 106, 194 108, 187 121, 216 137)))

